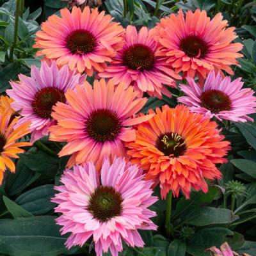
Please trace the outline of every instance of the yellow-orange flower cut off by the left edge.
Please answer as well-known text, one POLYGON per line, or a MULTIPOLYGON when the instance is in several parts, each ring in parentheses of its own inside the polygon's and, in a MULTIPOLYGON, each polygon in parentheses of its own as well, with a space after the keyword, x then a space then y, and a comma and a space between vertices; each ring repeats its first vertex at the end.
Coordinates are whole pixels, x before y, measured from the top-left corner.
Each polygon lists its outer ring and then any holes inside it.
POLYGON ((8 110, 0 113, 0 185, 7 168, 15 172, 15 164, 11 158, 19 158, 17 154, 24 152, 20 147, 31 145, 26 141, 18 141, 30 132, 29 122, 15 127, 19 118, 11 118, 12 113, 8 110))

